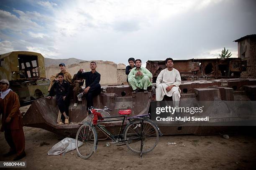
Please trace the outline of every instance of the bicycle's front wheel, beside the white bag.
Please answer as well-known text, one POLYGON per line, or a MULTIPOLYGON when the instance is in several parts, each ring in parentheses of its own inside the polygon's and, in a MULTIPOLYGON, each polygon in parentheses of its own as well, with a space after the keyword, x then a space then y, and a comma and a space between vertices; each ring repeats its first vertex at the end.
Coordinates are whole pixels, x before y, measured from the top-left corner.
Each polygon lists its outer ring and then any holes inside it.
POLYGON ((88 159, 97 149, 97 133, 93 126, 82 125, 76 136, 76 147, 78 155, 83 159, 88 159))

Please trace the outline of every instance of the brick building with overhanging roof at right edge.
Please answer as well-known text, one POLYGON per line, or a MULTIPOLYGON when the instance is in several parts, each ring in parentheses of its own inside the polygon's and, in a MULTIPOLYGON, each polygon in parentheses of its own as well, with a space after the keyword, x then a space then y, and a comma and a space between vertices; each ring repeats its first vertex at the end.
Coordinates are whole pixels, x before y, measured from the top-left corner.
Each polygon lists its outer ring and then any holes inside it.
POLYGON ((246 60, 247 69, 241 72, 243 78, 256 78, 256 34, 246 35, 238 42, 238 57, 246 60))

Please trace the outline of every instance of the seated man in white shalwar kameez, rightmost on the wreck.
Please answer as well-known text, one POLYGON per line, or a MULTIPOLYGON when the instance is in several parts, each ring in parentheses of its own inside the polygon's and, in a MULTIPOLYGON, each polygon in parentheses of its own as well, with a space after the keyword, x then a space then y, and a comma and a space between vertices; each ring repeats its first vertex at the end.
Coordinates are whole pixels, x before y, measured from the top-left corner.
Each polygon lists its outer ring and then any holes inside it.
POLYGON ((167 68, 156 78, 156 101, 162 101, 164 95, 172 96, 174 107, 179 107, 181 77, 179 71, 173 68, 172 58, 166 58, 165 64, 167 68))

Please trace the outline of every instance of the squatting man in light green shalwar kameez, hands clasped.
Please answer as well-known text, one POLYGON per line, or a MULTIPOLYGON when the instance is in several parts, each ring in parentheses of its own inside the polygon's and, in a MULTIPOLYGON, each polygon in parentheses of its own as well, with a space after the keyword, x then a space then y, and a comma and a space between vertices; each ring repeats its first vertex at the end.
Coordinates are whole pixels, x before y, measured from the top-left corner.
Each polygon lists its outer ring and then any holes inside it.
POLYGON ((152 85, 150 78, 152 78, 152 73, 145 67, 141 67, 141 60, 135 60, 135 65, 131 72, 128 75, 129 85, 133 88, 133 93, 143 89, 144 93, 147 93, 148 86, 152 85))

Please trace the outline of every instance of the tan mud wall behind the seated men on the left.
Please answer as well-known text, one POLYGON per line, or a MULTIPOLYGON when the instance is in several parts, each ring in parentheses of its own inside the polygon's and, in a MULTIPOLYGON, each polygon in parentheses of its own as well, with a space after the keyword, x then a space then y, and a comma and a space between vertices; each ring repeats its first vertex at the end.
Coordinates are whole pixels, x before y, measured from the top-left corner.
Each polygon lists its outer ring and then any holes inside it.
MULTIPOLYGON (((84 61, 77 64, 66 65, 66 70, 73 76, 78 72, 80 68, 85 71, 90 71, 90 62, 84 61)), ((96 61, 97 72, 100 73, 100 85, 116 85, 117 84, 117 64, 110 61, 96 61)), ((51 75, 56 75, 60 72, 59 66, 46 67, 46 78, 50 78, 51 75)))

